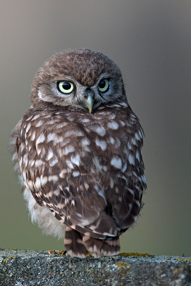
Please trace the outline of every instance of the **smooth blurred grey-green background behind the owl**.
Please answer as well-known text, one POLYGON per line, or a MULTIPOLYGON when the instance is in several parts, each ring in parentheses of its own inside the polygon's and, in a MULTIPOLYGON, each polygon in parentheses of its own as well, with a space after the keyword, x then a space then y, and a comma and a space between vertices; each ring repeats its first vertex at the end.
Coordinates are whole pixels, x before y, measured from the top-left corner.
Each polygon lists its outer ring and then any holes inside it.
POLYGON ((191 1, 0 1, 0 248, 64 249, 32 225, 13 172, 11 130, 52 54, 101 51, 121 68, 145 132, 147 191, 121 252, 191 256, 191 1))

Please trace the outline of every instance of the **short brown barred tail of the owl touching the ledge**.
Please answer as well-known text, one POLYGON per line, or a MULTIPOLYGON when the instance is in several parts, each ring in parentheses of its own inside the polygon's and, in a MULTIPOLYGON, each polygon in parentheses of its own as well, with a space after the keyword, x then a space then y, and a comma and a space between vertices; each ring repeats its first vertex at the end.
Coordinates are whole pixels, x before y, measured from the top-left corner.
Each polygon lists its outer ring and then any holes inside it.
POLYGON ((94 257, 119 254, 119 236, 111 240, 97 239, 83 235, 71 227, 66 227, 64 246, 71 256, 86 257, 90 253, 94 257))

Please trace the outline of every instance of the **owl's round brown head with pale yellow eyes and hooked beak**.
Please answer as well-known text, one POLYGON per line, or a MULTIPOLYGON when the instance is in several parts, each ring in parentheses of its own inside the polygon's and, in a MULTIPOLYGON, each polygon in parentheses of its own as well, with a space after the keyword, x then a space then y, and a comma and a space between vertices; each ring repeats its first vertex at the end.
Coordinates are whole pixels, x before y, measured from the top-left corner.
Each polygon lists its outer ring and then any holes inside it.
POLYGON ((40 108, 70 106, 93 112, 126 100, 119 67, 107 56, 75 49, 52 56, 36 73, 31 102, 40 108))

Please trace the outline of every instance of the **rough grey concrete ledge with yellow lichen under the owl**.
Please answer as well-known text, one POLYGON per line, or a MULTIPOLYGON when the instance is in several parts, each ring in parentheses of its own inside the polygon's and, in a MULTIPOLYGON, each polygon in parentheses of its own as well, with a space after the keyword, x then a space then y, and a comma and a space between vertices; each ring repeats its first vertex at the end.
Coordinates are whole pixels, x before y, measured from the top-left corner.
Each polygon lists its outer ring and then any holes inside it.
POLYGON ((0 250, 0 285, 191 285, 191 258, 78 257, 46 251, 0 250))

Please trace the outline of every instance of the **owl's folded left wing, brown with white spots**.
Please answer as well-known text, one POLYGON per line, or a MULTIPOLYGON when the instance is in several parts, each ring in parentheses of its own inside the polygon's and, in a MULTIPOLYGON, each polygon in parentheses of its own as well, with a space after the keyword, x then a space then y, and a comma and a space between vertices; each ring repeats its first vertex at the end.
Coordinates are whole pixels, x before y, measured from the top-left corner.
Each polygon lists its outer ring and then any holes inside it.
MULTIPOLYGON (((72 121, 60 120, 56 112, 36 112, 32 116, 31 113, 24 116, 18 139, 25 186, 39 205, 50 208, 68 226, 66 234, 70 232, 71 237, 72 231, 78 240, 81 236, 83 245, 89 243, 90 250, 94 244, 88 241, 90 237, 94 242, 108 237, 116 241, 120 228, 105 212, 105 193, 96 178, 88 139, 75 130, 72 121)), ((67 235, 65 238, 67 242, 67 235)))

